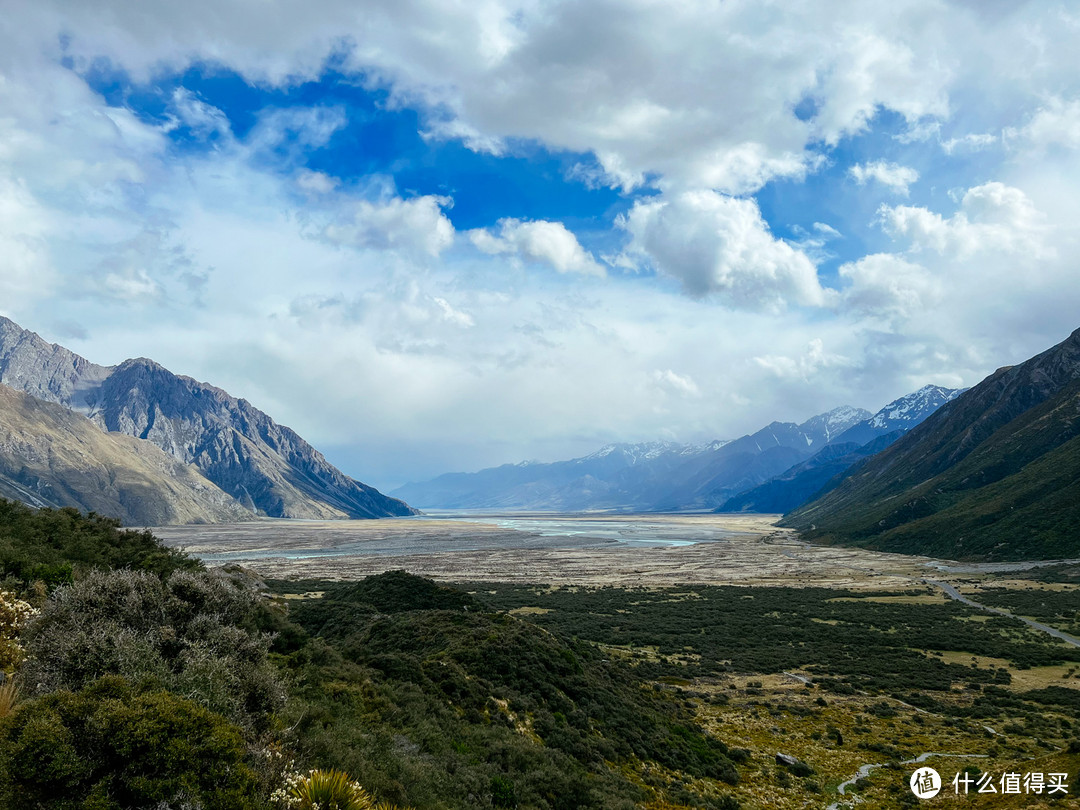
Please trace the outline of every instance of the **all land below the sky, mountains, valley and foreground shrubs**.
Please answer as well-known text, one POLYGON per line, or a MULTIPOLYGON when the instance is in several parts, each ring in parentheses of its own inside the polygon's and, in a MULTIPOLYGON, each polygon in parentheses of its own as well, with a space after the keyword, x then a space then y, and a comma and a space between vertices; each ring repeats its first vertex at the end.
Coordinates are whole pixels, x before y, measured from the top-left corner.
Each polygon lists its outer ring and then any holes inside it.
POLYGON ((1080 332, 968 391, 413 505, 151 361, 0 338, 0 496, 35 508, 0 499, 35 685, 0 687, 5 808, 348 773, 417 810, 853 810, 909 805, 917 761, 1080 767, 1080 332))

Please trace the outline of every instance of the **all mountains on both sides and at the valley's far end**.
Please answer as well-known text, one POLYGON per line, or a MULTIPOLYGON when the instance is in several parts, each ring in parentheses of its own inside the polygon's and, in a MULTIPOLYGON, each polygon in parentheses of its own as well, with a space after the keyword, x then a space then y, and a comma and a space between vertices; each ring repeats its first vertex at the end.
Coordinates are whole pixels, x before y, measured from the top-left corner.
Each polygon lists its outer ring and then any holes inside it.
MULTIPOLYGON (((407 484, 429 509, 786 512, 820 542, 954 558, 1080 554, 1080 329, 967 391, 927 386, 734 441, 612 444, 407 484)), ((129 525, 416 510, 245 400, 102 366, 0 318, 0 497, 129 525)))

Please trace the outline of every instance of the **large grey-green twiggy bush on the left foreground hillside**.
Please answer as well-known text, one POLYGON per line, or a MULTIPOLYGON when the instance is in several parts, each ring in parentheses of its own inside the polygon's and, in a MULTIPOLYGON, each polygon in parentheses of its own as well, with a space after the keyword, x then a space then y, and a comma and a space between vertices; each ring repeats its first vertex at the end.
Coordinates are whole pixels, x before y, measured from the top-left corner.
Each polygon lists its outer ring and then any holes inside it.
POLYGON ((166 581, 94 572, 58 589, 27 627, 22 680, 42 694, 78 691, 104 675, 184 694, 264 730, 284 690, 253 631, 257 595, 207 573, 166 581))

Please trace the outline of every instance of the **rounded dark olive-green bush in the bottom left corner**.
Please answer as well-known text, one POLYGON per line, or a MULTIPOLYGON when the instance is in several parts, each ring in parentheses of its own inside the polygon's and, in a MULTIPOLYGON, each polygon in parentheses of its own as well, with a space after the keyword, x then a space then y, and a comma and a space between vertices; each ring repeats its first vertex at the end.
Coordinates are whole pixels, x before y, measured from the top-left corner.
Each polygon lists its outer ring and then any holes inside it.
POLYGON ((122 678, 19 704, 0 721, 0 753, 4 807, 262 807, 240 729, 122 678))

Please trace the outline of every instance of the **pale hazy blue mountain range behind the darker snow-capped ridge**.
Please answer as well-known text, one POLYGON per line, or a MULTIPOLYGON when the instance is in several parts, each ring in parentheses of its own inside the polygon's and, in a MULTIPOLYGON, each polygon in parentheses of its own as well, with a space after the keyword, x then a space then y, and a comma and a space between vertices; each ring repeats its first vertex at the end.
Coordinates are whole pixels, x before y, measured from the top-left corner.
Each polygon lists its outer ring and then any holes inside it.
POLYGON ((712 509, 805 459, 868 416, 846 406, 802 424, 773 422, 734 442, 612 444, 568 461, 448 473, 406 484, 392 495, 421 509, 712 509))

